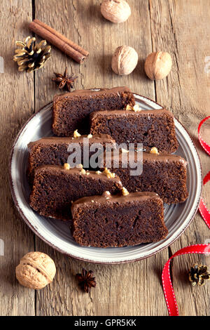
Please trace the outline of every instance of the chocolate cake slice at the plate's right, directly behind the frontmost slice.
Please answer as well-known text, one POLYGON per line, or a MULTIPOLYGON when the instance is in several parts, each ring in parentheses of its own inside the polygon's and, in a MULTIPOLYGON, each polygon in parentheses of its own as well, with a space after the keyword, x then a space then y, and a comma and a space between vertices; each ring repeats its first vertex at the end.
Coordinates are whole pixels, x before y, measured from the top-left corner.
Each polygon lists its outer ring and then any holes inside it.
POLYGON ((184 202, 188 197, 187 161, 175 154, 142 154, 140 161, 138 152, 122 152, 119 157, 117 154, 107 154, 104 166, 119 176, 129 192, 156 192, 167 204, 184 202), (143 166, 140 175, 131 175, 135 174, 135 164, 139 169, 140 165, 143 166))

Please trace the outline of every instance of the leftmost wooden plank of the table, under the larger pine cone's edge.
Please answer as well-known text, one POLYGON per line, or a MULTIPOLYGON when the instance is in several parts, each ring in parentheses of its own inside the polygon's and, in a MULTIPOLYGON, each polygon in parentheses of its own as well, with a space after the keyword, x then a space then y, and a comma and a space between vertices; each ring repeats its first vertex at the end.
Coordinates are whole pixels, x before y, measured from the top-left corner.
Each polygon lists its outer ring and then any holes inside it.
POLYGON ((34 110, 33 74, 18 73, 12 60, 15 41, 28 35, 25 22, 31 20, 31 1, 1 1, 0 12, 0 55, 4 60, 4 73, 0 73, 0 238, 5 244, 5 254, 0 256, 0 315, 34 315, 34 291, 15 279, 20 258, 34 250, 34 235, 15 211, 8 183, 13 140, 34 110))

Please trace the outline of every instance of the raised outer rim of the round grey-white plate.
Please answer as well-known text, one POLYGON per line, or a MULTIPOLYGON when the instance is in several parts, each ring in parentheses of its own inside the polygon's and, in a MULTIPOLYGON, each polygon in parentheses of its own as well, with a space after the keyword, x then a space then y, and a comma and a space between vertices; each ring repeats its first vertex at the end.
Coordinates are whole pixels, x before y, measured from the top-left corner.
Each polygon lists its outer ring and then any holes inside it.
MULTIPOLYGON (((94 88, 94 89, 98 89, 98 88, 94 88)), ((151 100, 151 98, 147 98, 146 96, 140 95, 138 93, 134 93, 134 95, 137 95, 140 98, 143 98, 145 100, 148 100, 151 103, 154 103, 155 105, 159 105, 160 107, 162 107, 162 105, 160 105, 159 103, 155 102, 154 100, 151 100)), ((45 242, 46 244, 48 244, 49 246, 51 246, 52 249, 55 249, 56 251, 59 251, 60 253, 64 254, 64 256, 68 256, 68 257, 71 257, 71 258, 76 259, 76 260, 82 260, 82 261, 85 261, 85 262, 88 262, 88 263, 96 263, 96 264, 104 264, 104 265, 113 265, 113 264, 116 264, 117 265, 117 264, 121 264, 121 263, 133 263, 135 261, 143 260, 143 259, 149 258, 151 256, 154 256, 156 253, 159 253, 160 251, 166 249, 168 246, 170 246, 171 244, 173 244, 174 242, 176 242, 176 239, 179 239, 179 237, 183 234, 183 232, 185 232, 185 230, 188 228, 188 226, 190 225, 190 223, 193 221, 193 218, 195 217, 195 214, 197 213, 197 209, 198 209, 199 204, 200 204, 200 198, 201 198, 201 195, 202 195, 202 186, 200 187, 200 195, 199 195, 199 198, 198 198, 197 205, 195 206, 195 212, 193 213, 193 215, 190 218, 190 220, 188 220, 188 223, 186 224, 186 226, 183 227, 183 230, 181 232, 179 232, 179 235, 177 235, 176 237, 174 237, 174 239, 172 239, 172 241, 169 242, 168 244, 166 244, 165 246, 160 247, 160 249, 158 249, 158 251, 151 252, 147 256, 141 256, 139 258, 135 258, 135 259, 132 259, 132 260, 120 260, 120 261, 110 261, 110 262, 107 262, 107 261, 97 261, 97 260, 91 260, 91 259, 88 259, 88 258, 81 258, 79 256, 74 256, 71 253, 66 253, 66 251, 64 251, 62 249, 59 249, 58 246, 55 246, 54 244, 52 244, 51 242, 49 242, 48 239, 45 239, 45 237, 43 237, 36 230, 36 228, 33 225, 31 225, 31 223, 29 222, 29 220, 27 219, 27 217, 23 213, 22 209, 20 208, 20 206, 18 204, 18 200, 17 200, 17 198, 15 196, 15 190, 14 190, 14 187, 13 187, 13 176, 12 176, 12 171, 11 171, 12 170, 12 161, 13 161, 13 154, 14 154, 14 150, 15 150, 15 145, 18 142, 18 139, 19 139, 20 135, 22 134, 22 132, 24 131, 25 127, 27 126, 27 124, 29 123, 29 121, 31 121, 31 119, 33 119, 39 112, 41 112, 41 110, 43 110, 48 105, 52 105, 52 101, 50 103, 47 103, 43 107, 41 107, 36 113, 32 114, 32 116, 29 117, 29 119, 25 122, 25 124, 20 129, 18 135, 16 136, 16 138, 14 140, 13 147, 12 147, 11 152, 10 152, 10 159, 9 159, 9 166, 8 166, 8 168, 9 168, 8 170, 9 170, 10 191, 11 191, 11 194, 12 194, 12 197, 13 197, 13 202, 15 204, 16 209, 18 210, 18 213, 20 213, 20 216, 25 221, 25 223, 29 226, 29 228, 34 232, 34 234, 36 234, 40 239, 42 239, 43 242, 45 242)), ((174 119, 176 119, 176 117, 174 117, 174 119)), ((176 119, 176 121, 181 125, 181 127, 184 129, 184 131, 186 131, 186 133, 188 134, 188 136, 189 136, 189 138, 191 140, 191 143, 193 144, 193 147, 195 148, 195 151, 197 153, 197 159, 199 160, 200 174, 201 174, 201 178, 202 178, 202 164, 201 164, 201 161, 200 161, 199 153, 197 152, 197 147, 195 146, 195 143, 193 142, 193 138, 190 136, 190 133, 188 133, 188 130, 183 126, 183 124, 181 124, 181 122, 178 119, 176 119)))

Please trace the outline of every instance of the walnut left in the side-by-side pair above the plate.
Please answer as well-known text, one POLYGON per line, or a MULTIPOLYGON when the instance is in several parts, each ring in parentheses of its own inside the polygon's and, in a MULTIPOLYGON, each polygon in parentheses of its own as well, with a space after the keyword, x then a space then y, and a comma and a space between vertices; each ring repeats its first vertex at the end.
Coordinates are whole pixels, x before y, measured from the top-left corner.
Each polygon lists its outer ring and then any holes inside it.
POLYGON ((139 56, 130 46, 120 46, 116 49, 111 60, 111 68, 121 76, 130 74, 137 66, 139 56))

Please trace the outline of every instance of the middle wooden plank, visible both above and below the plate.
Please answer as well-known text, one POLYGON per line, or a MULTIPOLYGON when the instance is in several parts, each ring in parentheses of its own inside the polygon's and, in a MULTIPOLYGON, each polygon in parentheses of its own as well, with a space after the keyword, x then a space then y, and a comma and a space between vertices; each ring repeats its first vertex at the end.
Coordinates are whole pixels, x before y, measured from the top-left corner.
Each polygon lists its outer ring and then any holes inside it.
MULTIPOLYGON (((155 98, 154 83, 144 74, 144 58, 151 52, 148 1, 128 1, 132 17, 123 25, 113 25, 100 14, 97 0, 36 0, 36 18, 62 32, 90 51, 85 64, 78 65, 52 47, 52 58, 36 72, 36 110, 59 93, 52 83, 52 72, 78 75, 76 88, 127 85, 132 91, 155 98), (116 47, 127 44, 139 53, 139 65, 128 77, 111 71, 111 55, 116 47)), ((36 238, 36 249, 50 254, 57 265, 55 281, 37 292, 37 315, 167 315, 162 292, 161 270, 168 258, 167 249, 148 260, 126 265, 93 265, 62 256, 36 238), (74 274, 91 269, 97 288, 82 293, 74 274)))

